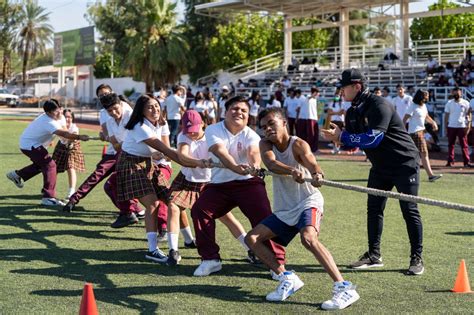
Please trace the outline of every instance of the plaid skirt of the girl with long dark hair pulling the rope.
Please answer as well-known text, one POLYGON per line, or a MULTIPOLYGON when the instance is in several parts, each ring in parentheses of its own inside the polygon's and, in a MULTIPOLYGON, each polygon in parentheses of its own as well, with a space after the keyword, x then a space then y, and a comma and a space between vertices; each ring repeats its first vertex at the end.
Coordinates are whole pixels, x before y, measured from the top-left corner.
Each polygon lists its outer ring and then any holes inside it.
POLYGON ((127 201, 154 194, 153 181, 158 182, 158 171, 150 157, 141 157, 122 151, 115 171, 117 172, 117 199, 127 201))

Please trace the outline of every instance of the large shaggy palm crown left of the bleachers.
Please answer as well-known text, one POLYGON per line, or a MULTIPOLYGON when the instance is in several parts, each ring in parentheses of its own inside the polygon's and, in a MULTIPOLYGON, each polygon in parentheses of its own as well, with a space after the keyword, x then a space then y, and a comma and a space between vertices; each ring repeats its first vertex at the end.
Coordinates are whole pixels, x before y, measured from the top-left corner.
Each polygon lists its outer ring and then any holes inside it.
POLYGON ((121 68, 152 91, 178 81, 187 66, 189 46, 175 9, 168 0, 108 0, 90 6, 88 13, 104 39, 115 42, 121 68))

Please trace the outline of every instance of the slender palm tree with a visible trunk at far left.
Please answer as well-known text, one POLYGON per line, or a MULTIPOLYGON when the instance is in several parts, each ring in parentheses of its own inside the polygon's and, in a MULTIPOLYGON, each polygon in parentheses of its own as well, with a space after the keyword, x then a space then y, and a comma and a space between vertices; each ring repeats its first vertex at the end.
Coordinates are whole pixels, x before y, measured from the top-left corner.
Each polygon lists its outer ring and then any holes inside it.
POLYGON ((28 61, 38 53, 43 54, 46 44, 51 42, 53 29, 49 22, 49 12, 36 1, 28 0, 22 8, 20 26, 15 48, 23 56, 23 88, 26 86, 28 61))

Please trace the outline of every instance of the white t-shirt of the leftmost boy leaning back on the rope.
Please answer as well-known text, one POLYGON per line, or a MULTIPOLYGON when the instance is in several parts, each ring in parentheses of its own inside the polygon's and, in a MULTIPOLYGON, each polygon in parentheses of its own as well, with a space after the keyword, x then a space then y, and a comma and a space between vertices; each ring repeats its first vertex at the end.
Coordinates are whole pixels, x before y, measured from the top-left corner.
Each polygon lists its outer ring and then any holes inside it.
POLYGON ((20 136, 20 149, 31 150, 43 146, 47 148, 54 139, 56 130, 62 130, 60 120, 54 120, 46 113, 33 120, 20 136))

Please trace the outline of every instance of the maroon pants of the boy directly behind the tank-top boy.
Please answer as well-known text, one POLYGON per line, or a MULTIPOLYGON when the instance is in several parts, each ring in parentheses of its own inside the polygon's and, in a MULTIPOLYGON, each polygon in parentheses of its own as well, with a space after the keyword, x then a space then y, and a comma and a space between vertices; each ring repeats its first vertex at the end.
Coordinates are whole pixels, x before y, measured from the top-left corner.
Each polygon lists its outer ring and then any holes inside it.
MULTIPOLYGON (((220 259, 216 243, 216 219, 239 207, 255 227, 272 214, 265 183, 260 178, 208 184, 191 209, 198 253, 203 260, 220 259)), ((280 264, 285 264, 285 249, 267 241, 280 264)))

